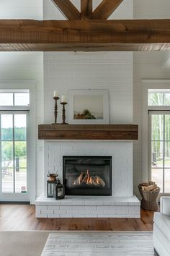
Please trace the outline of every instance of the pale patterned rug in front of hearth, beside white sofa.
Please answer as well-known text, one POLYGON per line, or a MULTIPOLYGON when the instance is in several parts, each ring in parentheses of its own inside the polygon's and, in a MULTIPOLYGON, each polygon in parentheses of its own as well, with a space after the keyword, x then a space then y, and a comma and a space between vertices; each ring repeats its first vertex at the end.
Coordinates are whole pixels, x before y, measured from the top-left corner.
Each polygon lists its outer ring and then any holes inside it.
POLYGON ((42 256, 153 256, 149 231, 59 231, 51 233, 42 256))

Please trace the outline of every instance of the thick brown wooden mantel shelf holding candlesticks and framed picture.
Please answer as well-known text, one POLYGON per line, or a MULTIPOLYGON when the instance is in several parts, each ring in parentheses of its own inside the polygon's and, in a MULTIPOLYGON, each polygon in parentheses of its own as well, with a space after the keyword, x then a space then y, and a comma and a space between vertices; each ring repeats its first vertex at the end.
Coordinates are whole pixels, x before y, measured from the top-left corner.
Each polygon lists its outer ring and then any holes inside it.
POLYGON ((134 124, 40 124, 39 140, 138 140, 134 124))

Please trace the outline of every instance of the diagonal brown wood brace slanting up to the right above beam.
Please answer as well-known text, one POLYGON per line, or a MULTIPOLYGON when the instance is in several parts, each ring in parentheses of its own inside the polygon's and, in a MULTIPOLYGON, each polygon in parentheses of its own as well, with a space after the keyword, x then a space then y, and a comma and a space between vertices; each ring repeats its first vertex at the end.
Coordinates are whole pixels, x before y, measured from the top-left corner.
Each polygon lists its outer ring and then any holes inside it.
POLYGON ((107 20, 123 0, 103 0, 93 12, 94 20, 107 20))

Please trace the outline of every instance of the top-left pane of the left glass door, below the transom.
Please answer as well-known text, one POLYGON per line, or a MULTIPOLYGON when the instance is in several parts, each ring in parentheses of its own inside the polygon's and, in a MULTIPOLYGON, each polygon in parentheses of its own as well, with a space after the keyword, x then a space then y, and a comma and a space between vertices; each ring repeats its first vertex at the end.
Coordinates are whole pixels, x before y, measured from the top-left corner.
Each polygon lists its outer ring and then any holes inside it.
POLYGON ((1 140, 13 140, 12 115, 1 115, 1 140))

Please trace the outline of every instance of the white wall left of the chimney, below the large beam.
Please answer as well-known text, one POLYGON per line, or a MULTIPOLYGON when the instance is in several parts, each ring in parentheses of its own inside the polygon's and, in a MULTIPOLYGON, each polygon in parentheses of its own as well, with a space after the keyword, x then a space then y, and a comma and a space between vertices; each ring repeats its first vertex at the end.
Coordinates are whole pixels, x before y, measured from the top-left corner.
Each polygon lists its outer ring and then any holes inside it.
MULTIPOLYGON (((43 54, 29 52, 1 52, 0 53, 0 80, 35 80, 36 87, 36 131, 37 124, 42 124, 43 119, 43 54)), ((30 124, 30 129, 31 124, 30 124)), ((43 189, 43 142, 37 140, 36 154, 36 176, 37 176, 37 195, 43 189)))

